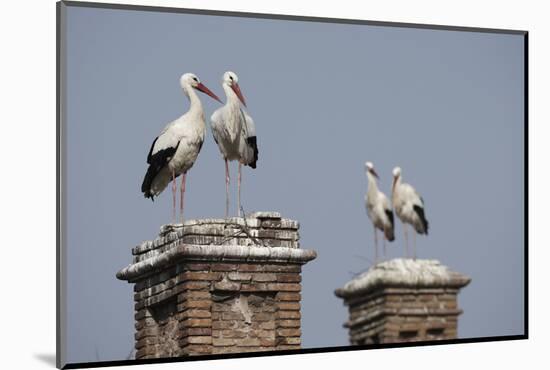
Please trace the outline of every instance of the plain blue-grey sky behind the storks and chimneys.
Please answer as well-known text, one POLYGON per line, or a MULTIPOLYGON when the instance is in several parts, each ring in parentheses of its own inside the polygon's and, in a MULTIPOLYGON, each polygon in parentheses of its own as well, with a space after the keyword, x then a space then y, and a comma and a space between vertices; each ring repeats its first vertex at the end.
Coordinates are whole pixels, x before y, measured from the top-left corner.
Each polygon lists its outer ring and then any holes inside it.
MULTIPOLYGON (((459 296, 462 338, 523 333, 523 38, 518 35, 68 9, 68 360, 125 359, 132 285, 115 273, 130 248, 171 220, 141 181, 153 139, 188 109, 196 73, 223 97, 239 75, 257 125, 246 211, 301 223, 305 348, 347 345, 333 294, 369 266, 364 162, 389 193, 391 170, 423 195, 420 258, 472 277, 459 296)), ((220 105, 200 96, 207 117, 220 105)), ((236 179, 236 164, 231 166, 236 179)), ((236 186, 232 181, 232 205, 236 186)), ((186 217, 222 217, 224 165, 210 131, 189 172, 186 217)), ((236 213, 233 208, 233 213, 236 213)), ((389 258, 403 255, 396 225, 389 258)))

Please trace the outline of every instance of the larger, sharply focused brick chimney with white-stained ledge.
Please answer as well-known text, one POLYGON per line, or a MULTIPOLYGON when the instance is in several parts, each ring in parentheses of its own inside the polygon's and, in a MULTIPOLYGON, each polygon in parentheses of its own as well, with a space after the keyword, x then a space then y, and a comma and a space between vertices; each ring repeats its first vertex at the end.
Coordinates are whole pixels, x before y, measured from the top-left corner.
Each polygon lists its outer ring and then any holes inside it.
POLYGON ((136 359, 299 349, 299 224, 277 212, 165 225, 133 248, 136 359))

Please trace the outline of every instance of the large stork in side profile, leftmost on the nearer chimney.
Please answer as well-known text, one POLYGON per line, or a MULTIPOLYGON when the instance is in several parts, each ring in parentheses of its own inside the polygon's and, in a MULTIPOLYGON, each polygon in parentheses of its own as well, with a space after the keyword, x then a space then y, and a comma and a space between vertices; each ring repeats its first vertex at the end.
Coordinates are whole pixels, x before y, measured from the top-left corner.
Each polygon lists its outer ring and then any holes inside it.
POLYGON ((204 141, 206 125, 202 104, 195 90, 199 90, 221 103, 221 100, 192 73, 180 78, 180 85, 190 102, 189 110, 170 122, 153 141, 147 163, 149 168, 143 179, 141 191, 154 200, 172 180, 173 218, 176 220, 176 177, 183 175, 180 187, 180 216, 183 223, 183 199, 185 177, 193 166, 204 141))

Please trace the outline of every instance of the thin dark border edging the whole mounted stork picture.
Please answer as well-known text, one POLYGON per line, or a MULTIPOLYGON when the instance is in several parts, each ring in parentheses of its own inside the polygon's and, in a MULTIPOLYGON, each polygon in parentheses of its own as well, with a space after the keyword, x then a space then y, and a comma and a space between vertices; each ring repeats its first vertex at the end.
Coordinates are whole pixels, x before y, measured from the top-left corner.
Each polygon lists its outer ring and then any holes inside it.
MULTIPOLYGON (((468 343, 484 343, 484 342, 500 342, 510 340, 524 340, 529 339, 529 32, 525 30, 508 30, 508 29, 495 29, 495 28, 477 28, 477 27, 461 27, 461 26, 446 26, 446 25, 430 25, 421 23, 401 23, 401 22, 383 22, 383 21, 369 21, 359 19, 343 19, 343 18, 325 18, 325 17, 312 17, 312 16, 299 16, 299 15, 285 15, 285 14, 268 14, 268 13, 251 13, 251 12, 234 12, 234 11, 221 11, 221 10, 208 10, 208 9, 191 9, 191 8, 176 8, 176 7, 161 7, 161 6, 146 6, 146 5, 132 5, 132 4, 113 4, 113 3, 98 3, 98 2, 80 2, 80 1, 59 1, 56 4, 56 366, 60 369, 81 369, 81 368, 96 368, 96 367, 109 367, 109 366, 124 366, 124 365, 146 365, 146 364, 159 364, 159 363, 174 363, 174 362, 188 362, 188 361, 209 361, 209 360, 221 360, 221 359, 233 359, 233 358, 251 358, 251 357, 268 357, 268 356, 282 356, 293 354, 310 354, 310 353, 324 353, 324 352, 343 352, 343 351, 361 351, 369 349, 385 349, 385 348, 406 348, 406 347, 424 347, 434 345, 446 345, 446 344, 468 344, 468 343), (181 14, 195 14, 195 15, 209 15, 209 16, 223 16, 223 17, 239 17, 239 18, 256 18, 256 19, 275 19, 286 21, 302 21, 302 22, 316 22, 316 23, 336 23, 336 24, 353 24, 353 25, 369 25, 379 27, 399 27, 399 28, 415 28, 415 29, 428 29, 428 30, 441 30, 441 31, 459 31, 459 32, 478 32, 478 33, 496 33, 496 34, 508 34, 508 35, 522 35, 524 38, 524 333, 519 335, 505 335, 505 336, 490 336, 490 337, 474 337, 474 338, 458 338, 452 340, 437 340, 437 341, 422 341, 411 343, 391 343, 391 344, 372 344, 372 345, 358 345, 358 346, 338 346, 338 347, 318 347, 307 348, 300 350, 284 350, 284 351, 269 351, 269 352, 245 352, 245 353, 233 353, 233 354, 220 354, 220 355, 203 355, 203 356, 189 356, 189 357, 166 357, 159 359, 148 360, 116 360, 116 361, 95 361, 95 362, 78 362, 78 363, 66 363, 63 364, 60 358, 61 347, 66 345, 62 343, 65 337, 62 335, 60 325, 64 326, 65 321, 63 313, 64 308, 61 306, 64 304, 62 298, 65 291, 61 286, 62 280, 65 274, 64 261, 62 260, 65 250, 63 243, 64 232, 64 194, 62 193, 64 173, 64 137, 62 136, 64 130, 63 122, 63 109, 64 109, 64 70, 66 67, 64 59, 65 47, 63 32, 65 31, 64 24, 62 24, 62 6, 72 7, 85 7, 85 8, 99 8, 99 9, 112 9, 112 10, 133 10, 133 11, 147 11, 147 12, 161 12, 161 13, 181 13, 181 14), (60 290, 63 290, 60 292, 60 290)), ((64 328, 63 328, 64 329, 64 328)), ((63 356, 64 357, 64 356, 63 356)), ((64 360, 64 359, 63 359, 64 360)))

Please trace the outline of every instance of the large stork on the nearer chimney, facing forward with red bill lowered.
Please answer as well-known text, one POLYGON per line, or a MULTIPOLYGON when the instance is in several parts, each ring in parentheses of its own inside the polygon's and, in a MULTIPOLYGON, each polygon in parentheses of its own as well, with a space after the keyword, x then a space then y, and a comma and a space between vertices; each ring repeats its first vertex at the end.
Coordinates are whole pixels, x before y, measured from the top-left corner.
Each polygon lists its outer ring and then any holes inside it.
POLYGON ((218 144, 225 161, 225 217, 229 214, 229 161, 239 161, 238 177, 238 215, 241 216, 241 167, 256 168, 258 146, 256 128, 241 103, 246 107, 244 96, 239 87, 239 78, 234 72, 223 74, 222 87, 227 97, 225 105, 216 110, 212 121, 212 135, 218 144))

